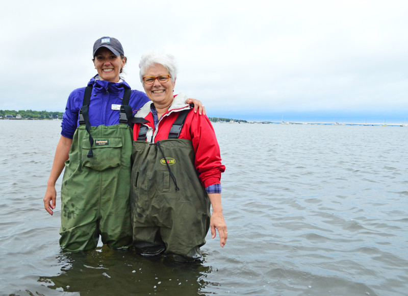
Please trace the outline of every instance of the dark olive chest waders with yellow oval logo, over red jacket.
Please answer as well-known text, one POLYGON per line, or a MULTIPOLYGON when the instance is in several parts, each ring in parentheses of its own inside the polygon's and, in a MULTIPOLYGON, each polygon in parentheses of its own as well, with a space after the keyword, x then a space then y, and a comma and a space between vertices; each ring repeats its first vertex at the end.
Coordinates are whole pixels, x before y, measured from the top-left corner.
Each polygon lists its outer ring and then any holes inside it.
POLYGON ((197 176, 192 142, 178 138, 182 125, 177 123, 169 139, 146 142, 141 126, 133 142, 133 243, 145 256, 164 251, 176 260, 194 260, 206 243, 210 201, 197 176))

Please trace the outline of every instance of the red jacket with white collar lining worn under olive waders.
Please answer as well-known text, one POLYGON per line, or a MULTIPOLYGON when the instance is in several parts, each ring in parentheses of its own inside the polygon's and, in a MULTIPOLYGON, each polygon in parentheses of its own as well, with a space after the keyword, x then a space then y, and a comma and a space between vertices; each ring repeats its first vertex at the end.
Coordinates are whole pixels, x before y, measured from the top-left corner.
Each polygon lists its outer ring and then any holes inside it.
MULTIPOLYGON (((186 98, 184 94, 179 94, 174 97, 169 110, 159 119, 157 130, 155 129, 153 114, 150 111, 150 105, 153 102, 147 102, 135 114, 135 117, 143 117, 148 120, 148 122, 143 124, 148 127, 147 141, 156 143, 159 140, 167 139, 170 128, 177 118, 178 113, 190 108, 190 106, 185 103, 186 98)), ((135 124, 133 127, 134 140, 138 137, 139 129, 140 124, 135 124)), ((225 166, 221 164, 220 147, 208 117, 206 115, 199 115, 198 112, 189 112, 179 139, 192 141, 195 152, 195 168, 198 172, 201 184, 204 187, 219 184, 221 172, 225 170, 225 166)))

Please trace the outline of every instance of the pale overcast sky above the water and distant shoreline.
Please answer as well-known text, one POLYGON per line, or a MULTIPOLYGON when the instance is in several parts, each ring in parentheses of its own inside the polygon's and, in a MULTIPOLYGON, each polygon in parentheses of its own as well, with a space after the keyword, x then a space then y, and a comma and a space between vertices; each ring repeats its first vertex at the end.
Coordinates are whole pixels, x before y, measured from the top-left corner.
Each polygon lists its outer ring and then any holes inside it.
POLYGON ((142 53, 171 53, 175 92, 209 116, 408 120, 407 15, 408 1, 393 0, 7 1, 0 109, 64 111, 96 74, 94 41, 111 36, 133 89, 142 53))

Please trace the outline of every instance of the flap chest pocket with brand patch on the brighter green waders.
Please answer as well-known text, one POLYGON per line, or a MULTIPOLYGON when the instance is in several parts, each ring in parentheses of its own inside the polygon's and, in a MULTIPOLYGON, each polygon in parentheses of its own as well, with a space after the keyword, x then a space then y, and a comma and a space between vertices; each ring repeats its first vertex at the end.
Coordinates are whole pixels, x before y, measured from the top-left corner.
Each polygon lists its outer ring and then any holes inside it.
POLYGON ((120 165, 122 153, 121 138, 94 138, 93 156, 88 157, 91 144, 89 139, 82 140, 82 165, 94 170, 105 170, 120 165))

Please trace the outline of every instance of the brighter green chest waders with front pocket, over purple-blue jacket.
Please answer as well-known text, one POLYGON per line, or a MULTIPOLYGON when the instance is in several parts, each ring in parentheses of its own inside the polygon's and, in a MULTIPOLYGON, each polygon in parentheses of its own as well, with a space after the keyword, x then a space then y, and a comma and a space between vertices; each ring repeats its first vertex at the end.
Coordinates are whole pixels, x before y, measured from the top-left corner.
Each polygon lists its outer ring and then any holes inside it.
POLYGON ((129 204, 132 116, 126 90, 120 123, 91 127, 88 107, 92 89, 85 91, 80 126, 73 135, 61 188, 60 245, 68 251, 96 248, 99 235, 111 248, 132 243, 129 204), (130 110, 130 112, 129 112, 130 110))

